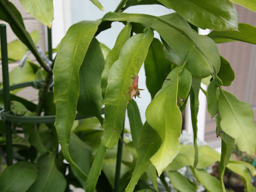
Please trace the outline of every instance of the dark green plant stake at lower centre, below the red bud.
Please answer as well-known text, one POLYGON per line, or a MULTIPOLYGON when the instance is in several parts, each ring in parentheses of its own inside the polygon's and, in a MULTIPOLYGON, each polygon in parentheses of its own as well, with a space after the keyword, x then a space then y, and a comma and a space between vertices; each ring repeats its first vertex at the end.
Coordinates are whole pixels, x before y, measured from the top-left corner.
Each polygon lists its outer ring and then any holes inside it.
MULTIPOLYGON (((124 122, 125 122, 125 119, 124 119, 124 122)), ((123 123, 123 130, 122 130, 120 138, 118 140, 114 192, 119 191, 121 162, 122 162, 122 151, 123 151, 123 138, 124 138, 124 123, 123 123)))

